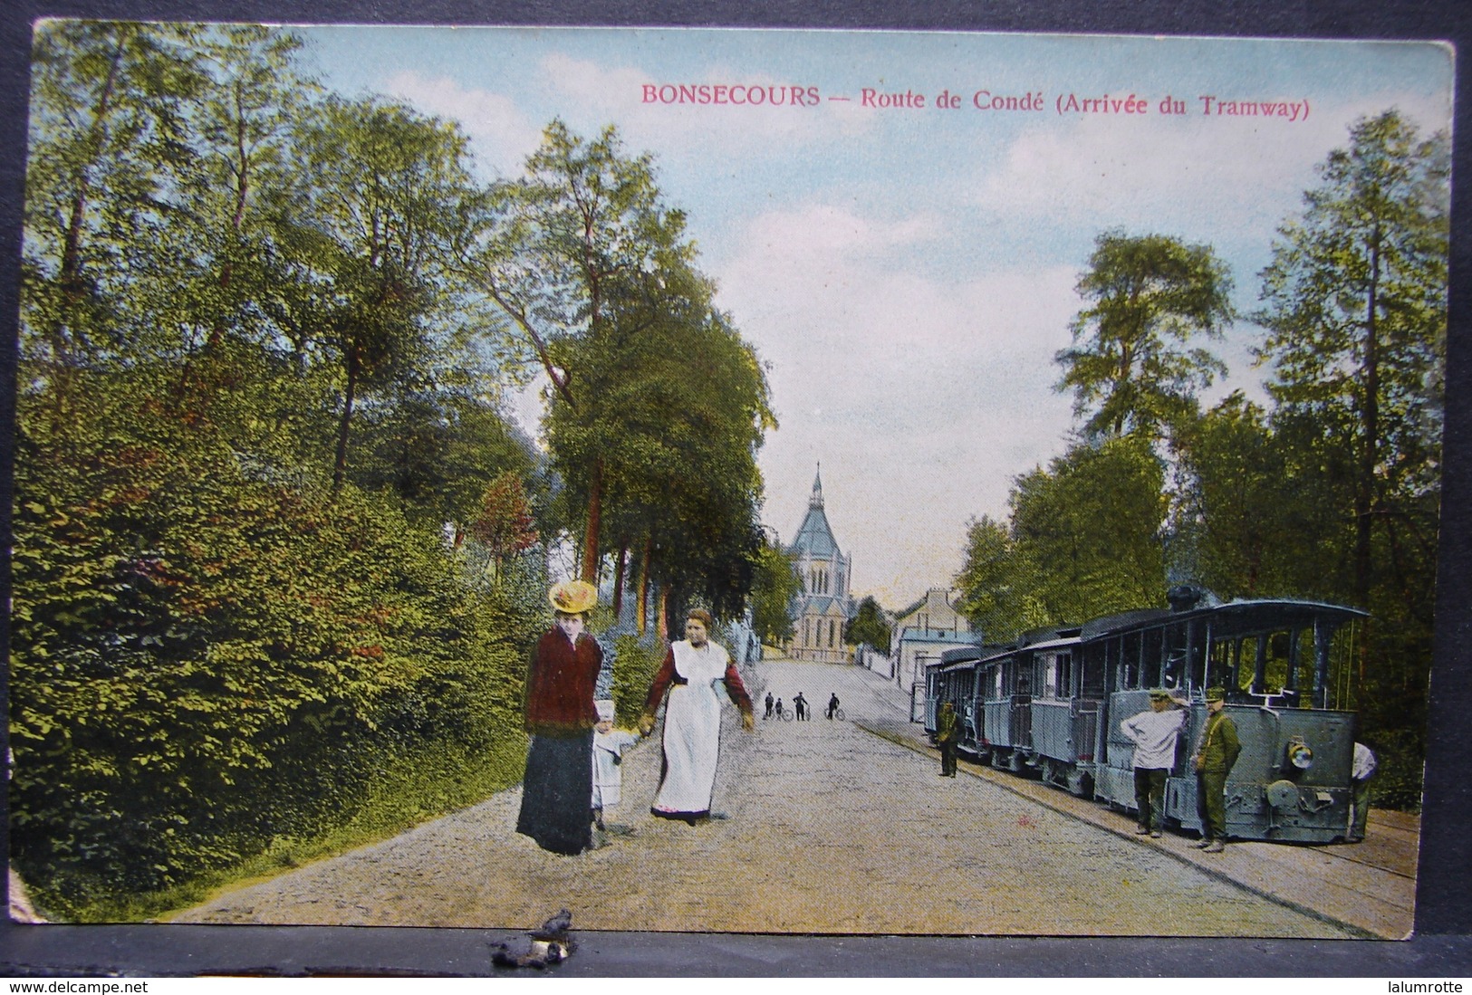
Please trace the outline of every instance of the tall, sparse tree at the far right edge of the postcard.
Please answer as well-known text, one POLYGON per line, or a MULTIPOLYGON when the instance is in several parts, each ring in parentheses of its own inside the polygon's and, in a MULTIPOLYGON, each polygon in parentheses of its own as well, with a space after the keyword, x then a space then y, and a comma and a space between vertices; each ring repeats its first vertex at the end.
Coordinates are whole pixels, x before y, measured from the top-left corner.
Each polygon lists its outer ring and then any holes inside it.
MULTIPOLYGON (((1320 185, 1279 228, 1263 271, 1273 368, 1285 414, 1312 415, 1353 467, 1354 578, 1366 605, 1376 523, 1437 489, 1450 159, 1398 112, 1365 118, 1319 166, 1320 185)), ((1409 523, 1403 520, 1403 528, 1409 523)))

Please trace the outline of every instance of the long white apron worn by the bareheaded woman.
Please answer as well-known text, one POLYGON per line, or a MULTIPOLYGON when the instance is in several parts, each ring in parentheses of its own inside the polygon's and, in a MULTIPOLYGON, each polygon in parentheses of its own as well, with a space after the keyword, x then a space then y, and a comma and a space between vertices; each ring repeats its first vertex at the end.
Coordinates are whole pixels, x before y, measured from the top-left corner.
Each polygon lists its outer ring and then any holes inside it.
POLYGON ((715 761, 721 746, 721 695, 726 693, 723 646, 705 643, 695 649, 680 640, 674 651, 674 673, 686 683, 670 686, 664 709, 664 780, 654 810, 670 815, 704 815, 711 811, 715 761))

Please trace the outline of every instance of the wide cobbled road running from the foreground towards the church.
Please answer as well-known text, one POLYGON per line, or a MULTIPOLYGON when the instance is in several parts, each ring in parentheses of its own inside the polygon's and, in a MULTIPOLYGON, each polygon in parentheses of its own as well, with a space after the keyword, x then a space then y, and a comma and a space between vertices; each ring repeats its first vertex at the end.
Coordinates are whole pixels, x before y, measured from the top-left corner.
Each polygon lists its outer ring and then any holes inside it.
POLYGON ((374 846, 221 893, 181 923, 576 930, 1341 938, 1150 846, 858 729, 902 721, 908 696, 854 667, 757 664, 757 730, 726 708, 717 811, 649 815, 659 729, 627 754, 602 849, 559 857, 512 832, 520 789, 374 846), (801 690, 811 721, 764 721, 801 690), (846 721, 829 721, 829 695, 846 721))

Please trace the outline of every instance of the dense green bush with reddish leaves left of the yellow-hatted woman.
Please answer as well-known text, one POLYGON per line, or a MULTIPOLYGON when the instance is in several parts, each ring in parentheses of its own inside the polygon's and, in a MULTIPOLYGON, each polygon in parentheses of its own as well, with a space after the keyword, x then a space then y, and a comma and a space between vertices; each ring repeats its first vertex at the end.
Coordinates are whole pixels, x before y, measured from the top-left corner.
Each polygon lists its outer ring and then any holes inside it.
POLYGON ((394 757, 515 729, 531 620, 465 584, 440 536, 247 472, 210 424, 94 386, 18 431, 12 854, 43 898, 322 832, 394 757))

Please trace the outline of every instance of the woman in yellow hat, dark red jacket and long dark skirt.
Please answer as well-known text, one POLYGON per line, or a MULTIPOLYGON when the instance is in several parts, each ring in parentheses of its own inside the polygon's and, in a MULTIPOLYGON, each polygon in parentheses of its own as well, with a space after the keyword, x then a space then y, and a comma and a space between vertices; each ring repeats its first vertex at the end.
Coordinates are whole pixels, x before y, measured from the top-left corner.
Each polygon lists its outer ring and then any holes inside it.
POLYGON ((592 584, 556 584, 549 598, 556 623, 537 640, 527 671, 531 743, 517 832, 542 849, 571 855, 593 845, 593 689, 604 651, 583 631, 583 612, 598 603, 592 584))

